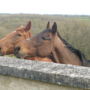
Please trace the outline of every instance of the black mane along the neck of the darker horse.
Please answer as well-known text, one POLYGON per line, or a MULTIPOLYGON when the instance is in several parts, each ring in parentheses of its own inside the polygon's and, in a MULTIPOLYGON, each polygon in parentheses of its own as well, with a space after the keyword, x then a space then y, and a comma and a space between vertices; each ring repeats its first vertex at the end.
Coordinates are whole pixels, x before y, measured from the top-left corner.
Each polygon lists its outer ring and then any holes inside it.
POLYGON ((80 50, 74 48, 71 44, 69 44, 66 40, 64 40, 60 36, 59 32, 57 32, 57 35, 63 41, 63 43, 66 45, 66 47, 68 49, 70 49, 72 53, 74 53, 75 55, 77 55, 79 57, 79 59, 81 60, 82 64, 85 64, 86 63, 85 61, 87 60, 85 55, 80 50))

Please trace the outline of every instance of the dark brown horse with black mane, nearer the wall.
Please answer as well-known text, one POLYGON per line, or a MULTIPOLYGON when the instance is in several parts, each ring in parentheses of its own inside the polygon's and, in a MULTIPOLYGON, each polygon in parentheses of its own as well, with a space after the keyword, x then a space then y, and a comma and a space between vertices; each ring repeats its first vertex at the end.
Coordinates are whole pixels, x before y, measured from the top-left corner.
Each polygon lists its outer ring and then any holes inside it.
POLYGON ((63 64, 89 66, 84 55, 68 44, 58 33, 57 24, 47 28, 36 36, 20 42, 14 51, 19 58, 25 57, 48 57, 53 55, 54 61, 63 64))

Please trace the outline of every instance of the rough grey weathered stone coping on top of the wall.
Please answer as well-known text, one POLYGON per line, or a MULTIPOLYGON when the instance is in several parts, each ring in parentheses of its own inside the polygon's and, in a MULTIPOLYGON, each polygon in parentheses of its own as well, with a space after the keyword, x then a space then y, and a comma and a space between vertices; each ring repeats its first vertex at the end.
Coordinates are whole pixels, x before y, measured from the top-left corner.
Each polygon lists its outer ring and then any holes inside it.
POLYGON ((90 89, 90 68, 0 57, 0 74, 90 89))

